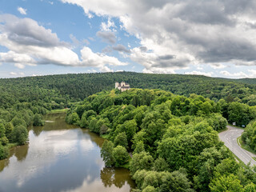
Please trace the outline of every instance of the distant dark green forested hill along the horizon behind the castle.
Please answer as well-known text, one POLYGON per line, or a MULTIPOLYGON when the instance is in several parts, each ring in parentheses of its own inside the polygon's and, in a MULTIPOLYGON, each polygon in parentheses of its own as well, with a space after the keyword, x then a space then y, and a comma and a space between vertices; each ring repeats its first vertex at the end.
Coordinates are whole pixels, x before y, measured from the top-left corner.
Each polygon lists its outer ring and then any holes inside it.
POLYGON ((243 102, 256 105, 256 85, 244 80, 209 78, 185 74, 141 74, 134 72, 97 74, 58 74, 26 78, 0 79, 1 87, 40 87, 56 90, 74 100, 83 100, 102 90, 112 90, 114 82, 125 81, 132 88, 168 90, 174 94, 189 96, 200 94, 206 98, 227 102, 243 102))

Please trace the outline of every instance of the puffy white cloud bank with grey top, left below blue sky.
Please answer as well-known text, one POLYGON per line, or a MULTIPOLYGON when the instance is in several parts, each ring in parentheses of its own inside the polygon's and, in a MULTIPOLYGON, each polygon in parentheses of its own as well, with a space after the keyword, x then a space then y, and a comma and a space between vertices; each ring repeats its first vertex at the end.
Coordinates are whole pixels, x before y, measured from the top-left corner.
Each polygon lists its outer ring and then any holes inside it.
MULTIPOLYGON (((72 34, 70 38, 74 44, 81 46, 82 43, 88 43, 86 40, 79 42, 72 34)), ((50 29, 39 26, 38 22, 30 18, 17 18, 10 14, 0 15, 0 46, 9 49, 6 53, 0 53, 0 62, 14 63, 14 66, 20 69, 26 65, 55 64, 96 66, 108 70, 106 64, 110 66, 127 64, 120 62, 118 58, 95 54, 86 46, 81 50, 81 60, 78 54, 70 49, 70 45, 61 42, 57 34, 52 33, 50 29)))

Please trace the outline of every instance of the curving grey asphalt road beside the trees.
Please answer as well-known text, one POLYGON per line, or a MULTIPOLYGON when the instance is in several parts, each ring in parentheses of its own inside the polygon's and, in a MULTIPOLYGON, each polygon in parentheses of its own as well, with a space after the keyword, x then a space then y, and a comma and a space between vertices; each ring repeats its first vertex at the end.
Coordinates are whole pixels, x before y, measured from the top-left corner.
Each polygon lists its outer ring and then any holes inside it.
POLYGON ((238 158, 241 159, 246 165, 250 162, 251 166, 256 166, 256 161, 252 157, 256 157, 255 154, 250 153, 247 150, 242 149, 241 146, 238 145, 237 138, 239 138, 243 132, 242 129, 238 129, 234 126, 226 126, 228 130, 223 131, 218 134, 219 138, 222 142, 227 146, 238 158))

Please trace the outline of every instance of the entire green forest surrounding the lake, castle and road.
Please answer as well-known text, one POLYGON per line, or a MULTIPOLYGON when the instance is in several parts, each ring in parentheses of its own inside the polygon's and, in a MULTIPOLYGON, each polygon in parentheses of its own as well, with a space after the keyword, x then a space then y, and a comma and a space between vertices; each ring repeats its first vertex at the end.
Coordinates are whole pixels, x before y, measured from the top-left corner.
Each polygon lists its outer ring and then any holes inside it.
POLYGON ((236 122, 256 148, 254 79, 133 72, 0 79, 0 159, 27 142, 27 126, 63 108, 66 122, 107 138, 106 166, 129 168, 138 191, 255 190, 256 170, 218 140, 236 122), (121 81, 134 89, 113 90, 121 81))

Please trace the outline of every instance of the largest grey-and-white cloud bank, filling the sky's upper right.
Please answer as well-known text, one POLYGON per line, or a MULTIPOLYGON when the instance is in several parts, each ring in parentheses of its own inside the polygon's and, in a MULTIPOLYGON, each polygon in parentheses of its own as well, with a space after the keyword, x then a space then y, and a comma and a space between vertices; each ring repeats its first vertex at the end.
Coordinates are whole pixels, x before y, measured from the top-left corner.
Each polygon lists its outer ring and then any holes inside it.
POLYGON ((145 70, 183 68, 198 63, 216 63, 213 67, 218 69, 229 62, 255 66, 256 3, 253 0, 62 2, 82 6, 86 14, 119 18, 122 29, 139 38, 141 45, 156 55, 154 58, 166 54, 176 58, 168 67, 166 62, 154 66, 151 54, 133 54, 131 58, 145 66, 145 70))

